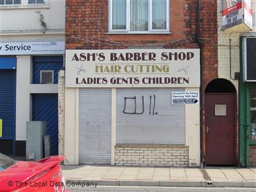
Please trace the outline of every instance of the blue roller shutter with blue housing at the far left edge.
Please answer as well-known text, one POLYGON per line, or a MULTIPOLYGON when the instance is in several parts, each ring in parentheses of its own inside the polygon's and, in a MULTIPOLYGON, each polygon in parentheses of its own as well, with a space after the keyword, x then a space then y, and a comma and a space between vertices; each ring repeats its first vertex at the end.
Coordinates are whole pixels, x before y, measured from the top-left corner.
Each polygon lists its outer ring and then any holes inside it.
POLYGON ((0 58, 0 150, 15 153, 16 58, 0 58))

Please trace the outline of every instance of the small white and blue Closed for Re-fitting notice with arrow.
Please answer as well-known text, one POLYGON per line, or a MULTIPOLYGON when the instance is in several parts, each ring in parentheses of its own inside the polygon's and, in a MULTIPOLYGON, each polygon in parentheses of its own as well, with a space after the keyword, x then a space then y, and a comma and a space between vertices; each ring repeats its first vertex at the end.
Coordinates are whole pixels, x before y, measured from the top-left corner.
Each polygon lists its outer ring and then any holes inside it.
POLYGON ((172 104, 199 104, 199 93, 172 92, 172 104))

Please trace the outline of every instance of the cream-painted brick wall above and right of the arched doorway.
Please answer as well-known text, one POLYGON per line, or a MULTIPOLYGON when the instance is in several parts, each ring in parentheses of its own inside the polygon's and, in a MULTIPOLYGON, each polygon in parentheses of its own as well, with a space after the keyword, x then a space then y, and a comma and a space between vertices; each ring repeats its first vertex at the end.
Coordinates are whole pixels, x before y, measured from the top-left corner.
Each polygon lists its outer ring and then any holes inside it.
MULTIPOLYGON (((256 35, 256 27, 255 24, 253 26, 253 30, 251 31, 249 28, 244 26, 243 24, 239 26, 235 26, 233 28, 226 29, 225 31, 221 30, 221 0, 218 0, 218 77, 228 79, 231 81, 234 86, 236 86, 236 90, 238 92, 238 81, 232 80, 230 78, 230 70, 229 70, 229 39, 231 39, 231 75, 234 78, 234 72, 239 72, 240 68, 240 52, 239 52, 239 36, 244 35, 256 35)), ((253 15, 255 17, 256 12, 256 1, 252 0, 252 10, 253 15)))

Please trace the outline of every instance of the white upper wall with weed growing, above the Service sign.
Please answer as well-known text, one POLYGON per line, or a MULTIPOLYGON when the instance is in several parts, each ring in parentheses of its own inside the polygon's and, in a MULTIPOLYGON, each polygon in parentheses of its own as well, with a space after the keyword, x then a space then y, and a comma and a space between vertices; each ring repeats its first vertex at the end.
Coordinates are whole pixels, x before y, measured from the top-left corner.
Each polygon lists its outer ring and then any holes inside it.
POLYGON ((0 31, 29 31, 44 29, 38 11, 44 15, 44 22, 50 30, 65 29, 65 0, 46 0, 45 4, 0 6, 0 31))

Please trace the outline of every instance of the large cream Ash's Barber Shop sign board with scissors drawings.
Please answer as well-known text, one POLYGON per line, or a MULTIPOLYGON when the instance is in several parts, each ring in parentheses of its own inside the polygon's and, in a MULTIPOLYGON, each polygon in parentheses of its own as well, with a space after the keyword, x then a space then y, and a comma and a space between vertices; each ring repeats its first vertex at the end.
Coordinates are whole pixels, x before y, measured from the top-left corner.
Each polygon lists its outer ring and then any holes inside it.
POLYGON ((199 49, 67 50, 66 87, 199 87, 199 49))

